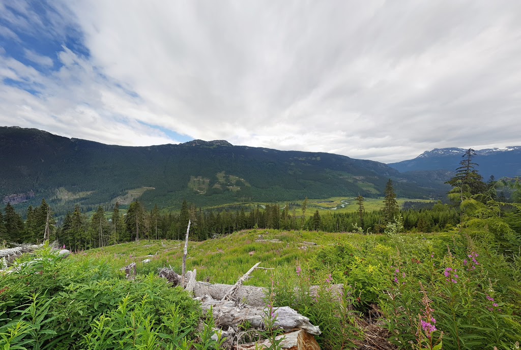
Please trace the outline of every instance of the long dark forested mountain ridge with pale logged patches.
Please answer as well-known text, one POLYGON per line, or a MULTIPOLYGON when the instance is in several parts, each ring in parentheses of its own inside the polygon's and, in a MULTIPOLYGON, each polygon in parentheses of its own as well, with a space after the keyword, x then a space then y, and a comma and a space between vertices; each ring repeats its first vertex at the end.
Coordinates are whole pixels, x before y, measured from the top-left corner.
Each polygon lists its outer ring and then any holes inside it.
POLYGON ((233 146, 224 140, 126 147, 67 138, 38 129, 0 127, 0 201, 53 208, 79 203, 168 207, 332 196, 378 197, 388 178, 398 196, 442 194, 415 184, 386 164, 344 155, 233 146))

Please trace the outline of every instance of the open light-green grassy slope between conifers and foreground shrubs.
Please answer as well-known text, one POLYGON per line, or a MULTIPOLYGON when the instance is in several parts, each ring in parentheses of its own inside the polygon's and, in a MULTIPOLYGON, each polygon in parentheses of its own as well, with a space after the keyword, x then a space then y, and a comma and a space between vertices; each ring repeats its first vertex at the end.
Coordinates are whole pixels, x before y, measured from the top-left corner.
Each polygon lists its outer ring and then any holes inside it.
MULTIPOLYGON (((383 235, 248 230, 203 242, 190 241, 187 269, 197 269, 197 279, 201 281, 233 284, 257 262, 261 262, 262 267, 289 272, 295 270, 297 260, 308 260, 319 247, 325 245, 342 242, 365 245, 368 242, 378 244, 385 241, 387 237, 383 235), (281 242, 255 242, 259 235, 264 239, 279 239, 281 242), (317 245, 304 242, 314 242, 317 245)), ((139 273, 157 271, 158 268, 166 266, 171 266, 177 273, 181 273, 183 245, 183 241, 177 240, 143 240, 89 250, 83 255, 96 259, 110 257, 117 267, 135 262, 139 273), (152 262, 143 264, 145 259, 151 259, 152 262)), ((269 270, 255 270, 252 276, 255 278, 246 284, 269 286, 269 270)))

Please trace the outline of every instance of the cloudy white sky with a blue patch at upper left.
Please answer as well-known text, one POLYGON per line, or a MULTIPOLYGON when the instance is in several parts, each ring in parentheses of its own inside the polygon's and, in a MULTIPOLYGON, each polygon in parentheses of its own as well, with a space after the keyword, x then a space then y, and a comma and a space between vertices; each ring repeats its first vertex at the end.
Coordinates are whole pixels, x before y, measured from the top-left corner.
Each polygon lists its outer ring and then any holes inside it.
POLYGON ((521 145, 521 2, 0 0, 0 126, 395 162, 521 145))

